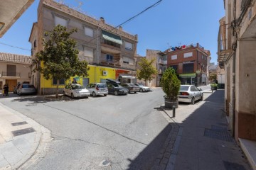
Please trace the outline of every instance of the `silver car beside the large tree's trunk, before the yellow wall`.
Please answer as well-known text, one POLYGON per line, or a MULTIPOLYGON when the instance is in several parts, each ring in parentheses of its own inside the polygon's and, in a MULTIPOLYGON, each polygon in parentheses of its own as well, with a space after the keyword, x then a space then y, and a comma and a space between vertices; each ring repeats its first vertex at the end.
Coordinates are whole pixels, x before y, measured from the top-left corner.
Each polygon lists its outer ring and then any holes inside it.
POLYGON ((90 91, 85 89, 85 87, 81 86, 80 84, 68 84, 63 89, 63 95, 70 96, 71 98, 88 98, 90 96, 90 91))

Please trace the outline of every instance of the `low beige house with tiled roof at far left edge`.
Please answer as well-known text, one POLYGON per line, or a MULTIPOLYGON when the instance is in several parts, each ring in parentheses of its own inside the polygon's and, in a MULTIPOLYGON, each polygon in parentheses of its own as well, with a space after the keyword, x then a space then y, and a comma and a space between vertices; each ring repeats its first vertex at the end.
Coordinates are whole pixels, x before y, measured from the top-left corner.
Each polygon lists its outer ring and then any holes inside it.
POLYGON ((0 89, 9 85, 9 91, 23 81, 31 81, 31 56, 0 52, 0 89))

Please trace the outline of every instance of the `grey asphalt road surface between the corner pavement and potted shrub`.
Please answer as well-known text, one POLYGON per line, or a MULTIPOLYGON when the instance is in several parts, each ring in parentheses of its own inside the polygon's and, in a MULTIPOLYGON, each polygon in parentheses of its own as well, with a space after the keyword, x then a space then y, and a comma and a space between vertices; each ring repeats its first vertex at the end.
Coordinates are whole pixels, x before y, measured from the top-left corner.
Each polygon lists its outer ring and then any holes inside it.
POLYGON ((162 112, 164 92, 127 96, 16 96, 1 103, 51 131, 53 142, 41 162, 30 169, 150 169, 171 125, 162 112))

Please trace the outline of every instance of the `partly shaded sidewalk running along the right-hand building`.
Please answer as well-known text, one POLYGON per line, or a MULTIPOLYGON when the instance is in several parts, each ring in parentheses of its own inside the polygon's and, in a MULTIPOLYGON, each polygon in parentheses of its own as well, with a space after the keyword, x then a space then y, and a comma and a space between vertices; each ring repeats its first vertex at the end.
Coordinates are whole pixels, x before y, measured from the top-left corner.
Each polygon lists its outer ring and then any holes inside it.
POLYGON ((176 108, 175 118, 162 107, 172 130, 152 170, 252 169, 228 130, 224 91, 204 92, 210 92, 208 98, 176 108))

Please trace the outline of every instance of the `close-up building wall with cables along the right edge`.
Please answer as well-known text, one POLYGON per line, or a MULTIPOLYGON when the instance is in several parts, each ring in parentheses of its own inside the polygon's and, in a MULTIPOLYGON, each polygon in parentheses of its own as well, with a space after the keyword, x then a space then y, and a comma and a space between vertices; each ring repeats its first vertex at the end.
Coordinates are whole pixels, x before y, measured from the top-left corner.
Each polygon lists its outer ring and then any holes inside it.
POLYGON ((218 63, 225 69, 225 113, 235 140, 256 141, 256 1, 224 1, 218 63))

